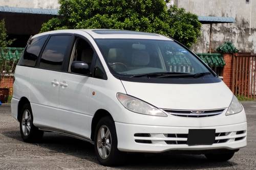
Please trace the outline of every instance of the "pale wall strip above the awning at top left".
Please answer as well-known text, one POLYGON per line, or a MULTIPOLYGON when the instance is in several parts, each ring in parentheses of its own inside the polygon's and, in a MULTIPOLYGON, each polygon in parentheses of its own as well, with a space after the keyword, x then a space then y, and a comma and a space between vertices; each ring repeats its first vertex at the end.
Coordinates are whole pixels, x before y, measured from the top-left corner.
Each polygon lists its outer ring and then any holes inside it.
POLYGON ((58 0, 1 0, 0 6, 56 9, 59 4, 58 0))

